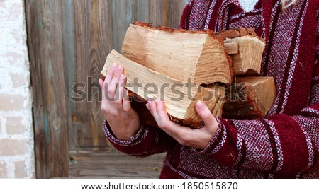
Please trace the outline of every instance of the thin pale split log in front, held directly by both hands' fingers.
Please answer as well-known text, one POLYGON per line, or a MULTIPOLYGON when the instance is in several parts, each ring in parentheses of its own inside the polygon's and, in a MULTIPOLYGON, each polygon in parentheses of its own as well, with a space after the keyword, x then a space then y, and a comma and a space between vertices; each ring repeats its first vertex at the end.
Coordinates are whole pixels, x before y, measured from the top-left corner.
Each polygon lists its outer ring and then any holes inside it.
POLYGON ((123 57, 115 50, 108 54, 106 64, 101 71, 103 76, 107 76, 107 69, 113 63, 123 66, 128 90, 145 100, 161 98, 169 115, 186 122, 201 121, 195 111, 197 100, 203 100, 208 108, 213 110, 220 98, 220 93, 216 93, 215 90, 165 76, 123 57))

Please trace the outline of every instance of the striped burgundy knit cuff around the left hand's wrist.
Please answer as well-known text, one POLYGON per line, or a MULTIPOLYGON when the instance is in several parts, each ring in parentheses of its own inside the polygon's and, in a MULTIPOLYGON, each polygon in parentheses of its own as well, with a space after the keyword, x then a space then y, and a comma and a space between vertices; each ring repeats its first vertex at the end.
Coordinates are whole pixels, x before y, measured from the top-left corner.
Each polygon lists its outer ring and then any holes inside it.
POLYGON ((130 140, 121 140, 113 134, 110 125, 108 124, 106 119, 104 119, 104 133, 112 144, 115 144, 117 146, 135 146, 137 144, 140 144, 142 139, 145 139, 148 133, 148 129, 144 126, 144 124, 141 124, 138 133, 135 134, 135 136, 130 136, 130 140))

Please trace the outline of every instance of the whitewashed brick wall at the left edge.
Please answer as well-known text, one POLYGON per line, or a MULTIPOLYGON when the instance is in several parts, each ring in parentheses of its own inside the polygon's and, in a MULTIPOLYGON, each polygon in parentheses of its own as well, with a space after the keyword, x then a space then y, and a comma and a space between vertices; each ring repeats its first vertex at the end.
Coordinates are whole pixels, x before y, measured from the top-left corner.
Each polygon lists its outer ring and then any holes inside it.
POLYGON ((0 0, 0 178, 33 178, 32 99, 23 0, 0 0))

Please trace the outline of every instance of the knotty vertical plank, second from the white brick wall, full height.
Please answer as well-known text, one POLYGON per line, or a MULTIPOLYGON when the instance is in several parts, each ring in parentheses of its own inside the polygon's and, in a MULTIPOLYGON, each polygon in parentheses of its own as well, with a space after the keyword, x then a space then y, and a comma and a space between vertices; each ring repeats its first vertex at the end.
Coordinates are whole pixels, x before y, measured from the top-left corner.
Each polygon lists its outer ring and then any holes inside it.
POLYGON ((50 143, 47 162, 50 163, 50 177, 67 177, 67 110, 65 99, 65 77, 62 39, 62 4, 61 1, 43 1, 43 79, 47 79, 45 90, 45 129, 49 131, 50 143), (59 74, 60 76, 56 76, 59 74))

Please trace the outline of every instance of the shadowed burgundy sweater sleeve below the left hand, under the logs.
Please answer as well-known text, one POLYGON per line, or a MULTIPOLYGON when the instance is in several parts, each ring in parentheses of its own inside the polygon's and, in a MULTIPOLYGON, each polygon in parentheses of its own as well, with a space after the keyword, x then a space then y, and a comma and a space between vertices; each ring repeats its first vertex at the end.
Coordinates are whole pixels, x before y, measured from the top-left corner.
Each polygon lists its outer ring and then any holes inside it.
POLYGON ((137 157, 163 153, 167 151, 169 141, 172 140, 162 129, 147 127, 145 124, 141 125, 138 133, 131 136, 129 141, 120 140, 113 134, 106 119, 104 120, 104 132, 114 148, 137 157))

